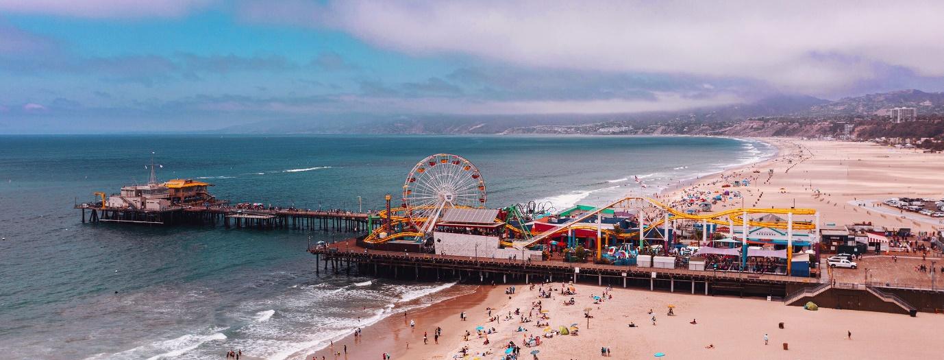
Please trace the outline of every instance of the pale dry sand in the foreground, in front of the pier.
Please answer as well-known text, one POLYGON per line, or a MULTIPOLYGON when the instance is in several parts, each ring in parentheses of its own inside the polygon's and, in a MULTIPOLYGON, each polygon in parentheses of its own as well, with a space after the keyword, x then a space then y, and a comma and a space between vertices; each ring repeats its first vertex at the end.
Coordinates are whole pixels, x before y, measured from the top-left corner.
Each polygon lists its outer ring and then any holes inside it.
MULTIPOLYGON (((551 283, 557 294, 552 299, 538 299, 538 290, 519 285, 518 294, 497 310, 497 314, 513 313, 514 320, 500 324, 488 322, 486 314, 475 314, 460 331, 483 325, 495 327, 490 334, 489 346, 472 336, 467 345, 472 353, 493 351, 482 359, 495 359, 504 353, 509 341, 523 345, 523 336, 544 334, 535 322, 521 324, 514 309, 528 315, 532 301, 542 300, 548 310, 553 329, 579 324, 579 335, 555 335, 542 338, 540 346, 522 347, 522 359, 531 359, 531 351, 538 350, 540 359, 586 359, 600 356, 600 348, 608 347, 617 359, 653 357, 664 352, 666 358, 764 358, 764 359, 863 359, 863 358, 936 358, 933 346, 944 340, 936 331, 944 316, 921 314, 919 317, 872 313, 862 311, 820 309, 803 310, 799 306, 785 306, 783 302, 762 299, 738 299, 680 293, 651 292, 648 290, 614 288, 612 300, 594 304, 591 295, 602 294, 604 287, 577 284, 575 305, 564 305, 571 296, 559 294, 561 283, 551 283), (675 316, 666 316, 667 305, 675 305, 675 316), (590 307, 589 320, 583 309, 590 307), (653 310, 657 325, 653 326, 649 309, 653 310), (692 319, 698 324, 690 324, 692 319), (634 322, 638 327, 627 325, 634 322), (778 324, 784 322, 784 329, 778 324), (527 332, 514 330, 523 326, 527 332), (851 331, 851 340, 847 332, 851 331), (764 334, 769 345, 764 344, 764 334), (788 344, 784 351, 783 343, 788 344), (705 349, 714 344, 715 349, 705 349)), ((545 289, 548 285, 545 285, 545 289)), ((536 319, 536 318, 535 318, 536 319)), ((452 333, 456 333, 453 331, 452 333)), ((452 358, 460 347, 447 353, 452 358)))

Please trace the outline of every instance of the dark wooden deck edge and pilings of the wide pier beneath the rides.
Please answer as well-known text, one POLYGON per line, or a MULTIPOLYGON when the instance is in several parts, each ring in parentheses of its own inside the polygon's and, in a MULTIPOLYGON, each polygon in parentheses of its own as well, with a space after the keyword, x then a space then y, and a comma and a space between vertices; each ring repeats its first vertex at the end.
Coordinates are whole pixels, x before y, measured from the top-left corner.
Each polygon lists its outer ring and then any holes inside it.
MULTIPOLYGON (((649 290, 705 295, 761 296, 782 299, 787 294, 819 284, 818 278, 751 274, 682 268, 614 266, 561 261, 522 261, 367 249, 356 239, 327 247, 310 248, 319 266, 328 271, 350 271, 379 277, 459 280, 471 283, 561 282, 596 283, 649 290)), ((315 266, 316 271, 321 271, 315 266)))

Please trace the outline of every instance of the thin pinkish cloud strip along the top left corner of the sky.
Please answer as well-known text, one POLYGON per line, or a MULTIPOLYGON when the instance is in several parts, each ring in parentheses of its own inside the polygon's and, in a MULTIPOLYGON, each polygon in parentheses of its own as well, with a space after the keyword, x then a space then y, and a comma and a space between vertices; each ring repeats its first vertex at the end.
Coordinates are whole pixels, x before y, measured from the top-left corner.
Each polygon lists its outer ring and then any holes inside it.
POLYGON ((76 18, 174 18, 214 0, 3 0, 0 12, 76 18))

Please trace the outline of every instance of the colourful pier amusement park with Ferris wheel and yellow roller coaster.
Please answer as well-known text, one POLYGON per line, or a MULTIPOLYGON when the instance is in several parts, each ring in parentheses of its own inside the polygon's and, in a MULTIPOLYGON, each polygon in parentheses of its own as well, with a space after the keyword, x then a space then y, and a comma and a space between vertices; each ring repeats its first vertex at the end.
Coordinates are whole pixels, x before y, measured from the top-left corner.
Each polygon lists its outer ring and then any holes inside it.
MULTIPOLYGON (((738 208, 711 214, 689 214, 649 197, 623 197, 605 206, 588 208, 580 214, 553 214, 548 204, 517 204, 502 209, 486 209, 485 181, 479 168, 465 158, 435 154, 416 163, 403 184, 400 207, 381 211, 381 225, 368 234, 368 246, 399 243, 423 251, 468 256, 522 257, 540 259, 543 250, 558 244, 576 248, 575 236, 584 248, 596 248, 599 260, 603 247, 623 249, 621 254, 668 253, 678 243, 679 229, 701 229, 700 245, 710 242, 709 229, 727 227, 729 241, 741 243, 741 261, 747 265, 748 242, 753 229, 784 230, 787 273, 790 272, 794 231, 807 231, 807 239, 818 242, 819 215, 815 209, 738 208), (615 214, 627 219, 628 227, 615 225, 615 214), (761 216, 756 214, 776 214, 761 216), (608 217, 610 215, 610 217, 608 217), (802 216, 795 219, 794 216, 802 216), (813 218, 810 218, 813 217, 813 218), (735 229, 740 239, 733 240, 735 229), (613 246, 613 247, 611 247, 613 246), (472 249, 474 248, 474 250, 472 249), (474 252, 473 252, 474 251, 474 252), (536 257, 535 257, 536 255, 536 257)), ((723 234, 723 233, 722 233, 723 234)), ((763 241, 762 241, 763 243, 763 241)), ((751 241, 751 244, 757 244, 751 241)), ((810 246, 806 242, 805 246, 810 246)), ((562 247, 563 248, 563 247, 562 247)))

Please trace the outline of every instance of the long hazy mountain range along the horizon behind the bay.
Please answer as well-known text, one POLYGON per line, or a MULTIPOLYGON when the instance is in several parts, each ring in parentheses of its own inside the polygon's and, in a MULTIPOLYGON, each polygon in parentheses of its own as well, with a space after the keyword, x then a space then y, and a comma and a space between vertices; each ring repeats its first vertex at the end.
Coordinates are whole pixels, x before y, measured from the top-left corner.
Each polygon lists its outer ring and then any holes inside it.
MULTIPOLYGON (((312 134, 715 134, 836 135, 837 121, 885 120, 886 109, 915 107, 919 117, 944 113, 944 93, 902 90, 837 101, 779 95, 747 104, 689 111, 550 115, 322 115, 221 129, 229 133, 312 134), (825 123, 824 123, 825 121, 825 123)), ((904 128, 902 128, 904 129, 904 128)))

